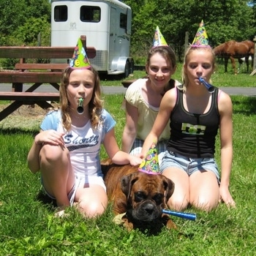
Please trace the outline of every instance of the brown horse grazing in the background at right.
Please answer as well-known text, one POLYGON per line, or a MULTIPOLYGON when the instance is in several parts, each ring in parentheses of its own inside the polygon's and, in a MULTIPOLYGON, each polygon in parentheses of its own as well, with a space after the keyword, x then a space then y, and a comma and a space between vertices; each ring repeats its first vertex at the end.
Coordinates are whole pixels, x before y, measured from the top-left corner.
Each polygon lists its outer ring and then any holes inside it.
POLYGON ((242 63, 241 58, 245 59, 247 72, 249 72, 249 56, 253 58, 255 54, 255 43, 249 40, 243 42, 236 42, 234 40, 224 42, 223 44, 214 48, 216 56, 220 56, 224 59, 225 72, 227 72, 227 62, 230 59, 235 74, 237 74, 235 59, 238 59, 239 63, 242 63))

